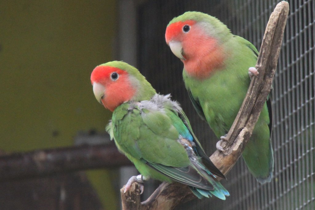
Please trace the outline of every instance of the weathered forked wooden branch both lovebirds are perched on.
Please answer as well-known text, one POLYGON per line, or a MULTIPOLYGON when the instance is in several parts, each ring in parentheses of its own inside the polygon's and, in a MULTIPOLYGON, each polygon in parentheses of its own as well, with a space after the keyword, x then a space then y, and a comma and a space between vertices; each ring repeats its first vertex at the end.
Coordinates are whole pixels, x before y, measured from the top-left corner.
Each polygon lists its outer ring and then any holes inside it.
MULTIPOLYGON (((210 157, 215 166, 225 175, 242 154, 270 92, 288 14, 289 4, 285 1, 278 3, 272 12, 256 64, 259 75, 251 81, 243 104, 227 134, 228 143, 224 147, 226 152, 222 153, 217 150, 210 157)), ((130 191, 128 195, 130 196, 132 193, 134 192, 130 191)), ((141 203, 141 208, 138 204, 136 206, 137 209, 142 210, 169 210, 180 203, 192 200, 194 198, 192 195, 189 188, 183 184, 163 182, 146 201, 141 203)), ((126 194, 122 193, 121 196, 124 201, 126 194)), ((128 208, 128 205, 123 204, 123 206, 124 209, 132 209, 128 208)))

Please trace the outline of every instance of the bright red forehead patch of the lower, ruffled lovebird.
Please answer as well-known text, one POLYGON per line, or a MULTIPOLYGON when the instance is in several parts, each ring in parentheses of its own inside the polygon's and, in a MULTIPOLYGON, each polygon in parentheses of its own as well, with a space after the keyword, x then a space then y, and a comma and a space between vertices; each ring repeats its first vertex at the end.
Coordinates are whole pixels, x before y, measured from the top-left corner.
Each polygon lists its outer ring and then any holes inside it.
POLYGON ((117 72, 119 75, 125 74, 126 72, 120 68, 112 66, 97 66, 91 74, 91 83, 102 82, 110 79, 111 73, 117 72))

